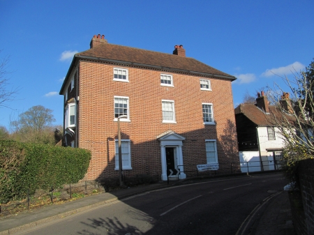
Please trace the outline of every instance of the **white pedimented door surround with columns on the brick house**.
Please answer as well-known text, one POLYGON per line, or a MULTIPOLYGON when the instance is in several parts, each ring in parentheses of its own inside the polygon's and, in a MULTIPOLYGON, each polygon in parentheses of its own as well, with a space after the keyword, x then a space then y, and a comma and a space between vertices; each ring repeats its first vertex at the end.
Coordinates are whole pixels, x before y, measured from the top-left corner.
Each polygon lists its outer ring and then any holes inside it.
MULTIPOLYGON (((161 180, 167 181, 167 160, 166 160, 166 147, 173 147, 177 149, 177 166, 179 166, 180 171, 184 172, 182 146, 185 137, 178 135, 177 133, 170 130, 162 135, 159 135, 157 139, 160 141, 160 157, 161 157, 161 180)), ((179 179, 186 179, 186 174, 181 173, 179 179)))

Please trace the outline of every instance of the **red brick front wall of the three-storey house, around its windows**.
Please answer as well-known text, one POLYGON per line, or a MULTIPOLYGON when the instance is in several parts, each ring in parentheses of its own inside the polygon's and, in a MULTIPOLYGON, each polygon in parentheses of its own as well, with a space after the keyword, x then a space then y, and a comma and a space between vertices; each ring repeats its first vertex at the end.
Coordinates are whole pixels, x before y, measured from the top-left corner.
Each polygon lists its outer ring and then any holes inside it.
POLYGON ((121 122, 121 139, 131 141, 133 169, 126 174, 160 174, 156 137, 167 130, 186 138, 182 147, 185 165, 206 163, 205 139, 217 139, 221 166, 239 162, 230 81, 207 78, 212 91, 201 91, 197 76, 93 61, 80 61, 79 75, 77 141, 80 148, 92 152, 85 179, 118 176, 114 170, 114 96, 129 98, 130 122, 121 122), (114 68, 127 68, 129 82, 113 81, 114 68), (160 86, 160 73, 172 75, 174 87, 160 86), (176 124, 162 123, 161 100, 174 100, 176 124), (213 104, 216 125, 203 124, 202 103, 213 104))

